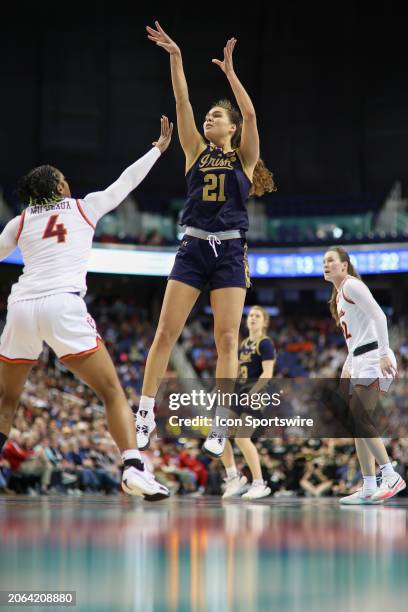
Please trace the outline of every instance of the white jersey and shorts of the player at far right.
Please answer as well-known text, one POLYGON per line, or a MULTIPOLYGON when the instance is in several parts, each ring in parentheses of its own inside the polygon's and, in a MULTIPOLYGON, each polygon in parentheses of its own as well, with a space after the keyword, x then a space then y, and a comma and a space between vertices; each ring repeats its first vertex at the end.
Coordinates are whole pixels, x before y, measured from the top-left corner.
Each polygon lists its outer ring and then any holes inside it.
POLYGON ((370 385, 378 379, 380 389, 387 391, 393 379, 384 378, 380 358, 389 356, 395 370, 397 363, 389 347, 387 318, 363 281, 354 276, 344 279, 338 289, 337 312, 348 348, 343 370, 359 379, 354 384, 370 385), (378 349, 353 355, 355 349, 371 342, 378 342, 378 349))

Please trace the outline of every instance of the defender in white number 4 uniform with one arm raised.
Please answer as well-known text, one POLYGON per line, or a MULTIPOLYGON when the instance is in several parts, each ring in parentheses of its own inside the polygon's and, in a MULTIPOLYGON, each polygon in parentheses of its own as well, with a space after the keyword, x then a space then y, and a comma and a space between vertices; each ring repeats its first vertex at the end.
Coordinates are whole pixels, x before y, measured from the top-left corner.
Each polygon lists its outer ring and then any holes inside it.
POLYGON ((153 148, 105 191, 83 200, 71 197, 65 177, 56 168, 34 168, 22 179, 20 190, 23 202, 30 206, 0 236, 0 259, 18 245, 25 264, 12 287, 0 341, 0 450, 45 341, 103 401, 109 431, 124 461, 123 489, 152 501, 168 497, 169 492, 141 461, 131 409, 82 298, 96 223, 144 179, 169 146, 172 129, 167 117, 162 117, 160 138, 153 148))

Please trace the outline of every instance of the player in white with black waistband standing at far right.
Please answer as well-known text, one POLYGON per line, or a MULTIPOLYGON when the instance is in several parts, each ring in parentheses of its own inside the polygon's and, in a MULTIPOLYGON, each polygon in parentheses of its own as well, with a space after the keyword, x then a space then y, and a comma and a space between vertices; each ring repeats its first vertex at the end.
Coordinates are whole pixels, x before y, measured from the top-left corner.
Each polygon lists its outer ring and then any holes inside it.
MULTIPOLYGON (((397 364, 389 348, 387 319, 341 247, 329 249, 323 258, 325 280, 333 283, 330 312, 347 343, 348 357, 342 378, 352 378, 351 412, 359 406, 375 408, 379 391, 386 392, 396 375, 397 364), (355 380, 357 379, 357 380, 355 380)), ((363 488, 343 497, 343 504, 379 503, 405 489, 405 481, 390 462, 380 438, 355 438, 363 474, 363 488), (375 461, 381 469, 377 488, 375 461)))

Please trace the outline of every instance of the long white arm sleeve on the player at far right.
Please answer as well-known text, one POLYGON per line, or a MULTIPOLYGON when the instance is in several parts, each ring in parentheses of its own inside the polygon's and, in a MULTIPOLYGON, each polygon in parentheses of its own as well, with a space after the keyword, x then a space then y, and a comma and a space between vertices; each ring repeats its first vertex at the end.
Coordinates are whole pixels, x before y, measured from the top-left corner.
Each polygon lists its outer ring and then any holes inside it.
POLYGON ((387 317, 375 301, 371 291, 363 282, 354 279, 347 281, 344 291, 346 296, 374 323, 380 357, 385 357, 389 349, 387 317))

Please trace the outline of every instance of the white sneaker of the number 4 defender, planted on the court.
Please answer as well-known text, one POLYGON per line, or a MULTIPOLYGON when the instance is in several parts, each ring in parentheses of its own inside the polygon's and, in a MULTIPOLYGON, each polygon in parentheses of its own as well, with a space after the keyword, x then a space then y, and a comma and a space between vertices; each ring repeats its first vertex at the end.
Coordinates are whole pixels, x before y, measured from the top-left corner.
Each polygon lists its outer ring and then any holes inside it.
POLYGON ((129 495, 138 495, 147 501, 159 501, 170 496, 167 487, 157 482, 139 459, 128 459, 125 462, 122 489, 129 495))

